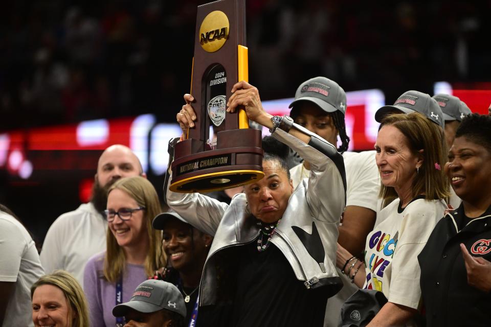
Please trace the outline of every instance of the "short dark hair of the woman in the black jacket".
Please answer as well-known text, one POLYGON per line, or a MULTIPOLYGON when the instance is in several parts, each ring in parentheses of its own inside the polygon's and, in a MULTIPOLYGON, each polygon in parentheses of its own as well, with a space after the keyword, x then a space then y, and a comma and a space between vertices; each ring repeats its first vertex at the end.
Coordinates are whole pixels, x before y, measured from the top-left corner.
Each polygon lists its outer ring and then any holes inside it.
POLYGON ((491 152, 491 116, 478 113, 465 116, 455 132, 455 138, 462 136, 491 152))

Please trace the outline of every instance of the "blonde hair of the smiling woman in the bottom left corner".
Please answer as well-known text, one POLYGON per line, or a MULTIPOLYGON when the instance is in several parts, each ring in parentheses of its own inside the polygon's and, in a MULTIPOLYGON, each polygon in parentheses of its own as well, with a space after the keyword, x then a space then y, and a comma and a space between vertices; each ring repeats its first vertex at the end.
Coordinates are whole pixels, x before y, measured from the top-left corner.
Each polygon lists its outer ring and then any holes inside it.
POLYGON ((70 304, 70 326, 86 327, 90 325, 88 320, 87 299, 82 291, 82 287, 71 273, 65 270, 55 270, 49 275, 41 276, 37 282, 31 286, 31 300, 34 291, 41 285, 56 286, 63 292, 66 300, 70 304))

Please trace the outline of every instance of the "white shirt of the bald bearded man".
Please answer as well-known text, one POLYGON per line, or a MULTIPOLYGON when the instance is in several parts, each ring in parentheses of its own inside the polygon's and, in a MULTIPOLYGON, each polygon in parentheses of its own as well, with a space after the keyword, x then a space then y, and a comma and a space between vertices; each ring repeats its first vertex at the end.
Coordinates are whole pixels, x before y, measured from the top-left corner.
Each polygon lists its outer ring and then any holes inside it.
POLYGON ((106 250, 107 221, 92 203, 58 217, 51 225, 41 249, 46 273, 56 269, 71 272, 83 287, 83 269, 94 254, 106 250))

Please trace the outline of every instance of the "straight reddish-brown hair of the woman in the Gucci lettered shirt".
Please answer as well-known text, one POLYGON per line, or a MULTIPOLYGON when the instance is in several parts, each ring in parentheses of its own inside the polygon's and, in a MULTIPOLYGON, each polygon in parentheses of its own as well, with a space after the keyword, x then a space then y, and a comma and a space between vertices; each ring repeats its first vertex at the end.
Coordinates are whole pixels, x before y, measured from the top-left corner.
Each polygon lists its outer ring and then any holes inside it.
MULTIPOLYGON (((419 112, 390 114, 382 120, 381 128, 388 125, 394 126, 404 134, 411 152, 423 157, 419 173, 412 181, 411 198, 420 194, 425 194, 427 200, 448 198, 449 183, 443 173, 443 165, 447 161, 447 148, 443 131, 439 126, 419 112), (420 150, 423 150, 422 153, 420 150), (437 169, 435 164, 438 164, 440 169, 437 169)), ((384 206, 398 197, 393 187, 383 184, 379 196, 384 206)))

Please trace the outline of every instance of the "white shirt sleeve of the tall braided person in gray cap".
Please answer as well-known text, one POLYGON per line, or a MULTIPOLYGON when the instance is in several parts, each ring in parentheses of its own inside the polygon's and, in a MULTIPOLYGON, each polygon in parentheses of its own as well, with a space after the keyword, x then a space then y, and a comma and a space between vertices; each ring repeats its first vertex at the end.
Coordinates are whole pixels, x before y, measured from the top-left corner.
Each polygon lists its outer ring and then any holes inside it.
POLYGON ((346 206, 356 205, 377 212, 380 190, 375 151, 360 152, 345 159, 346 206))

